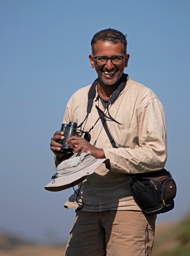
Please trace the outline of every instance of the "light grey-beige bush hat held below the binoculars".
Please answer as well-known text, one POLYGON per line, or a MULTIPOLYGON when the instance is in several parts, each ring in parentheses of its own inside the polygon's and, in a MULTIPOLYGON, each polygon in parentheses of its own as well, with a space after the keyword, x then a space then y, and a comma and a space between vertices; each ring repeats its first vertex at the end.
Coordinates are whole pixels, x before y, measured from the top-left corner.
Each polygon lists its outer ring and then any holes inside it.
POLYGON ((52 176, 53 181, 49 182, 45 189, 49 191, 61 191, 79 184, 83 177, 92 174, 100 164, 106 162, 107 158, 96 159, 91 152, 82 153, 80 156, 72 156, 61 162, 52 176))

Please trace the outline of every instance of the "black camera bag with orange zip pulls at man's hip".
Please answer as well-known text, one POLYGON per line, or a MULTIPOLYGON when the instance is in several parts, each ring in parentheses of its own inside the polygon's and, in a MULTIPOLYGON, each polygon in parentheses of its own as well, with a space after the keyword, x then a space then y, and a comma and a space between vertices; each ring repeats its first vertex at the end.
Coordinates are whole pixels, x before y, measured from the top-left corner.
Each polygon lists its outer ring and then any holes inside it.
POLYGON ((174 208, 176 183, 170 172, 162 169, 157 172, 131 174, 131 177, 134 200, 144 214, 151 216, 174 208))

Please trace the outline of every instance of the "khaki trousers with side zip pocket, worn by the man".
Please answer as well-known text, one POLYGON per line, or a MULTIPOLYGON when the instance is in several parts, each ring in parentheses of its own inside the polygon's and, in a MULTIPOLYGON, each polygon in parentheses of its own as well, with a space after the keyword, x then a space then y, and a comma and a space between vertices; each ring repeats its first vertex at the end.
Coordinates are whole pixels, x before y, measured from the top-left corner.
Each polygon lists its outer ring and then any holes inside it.
POLYGON ((156 215, 139 211, 77 211, 66 256, 150 256, 156 215))

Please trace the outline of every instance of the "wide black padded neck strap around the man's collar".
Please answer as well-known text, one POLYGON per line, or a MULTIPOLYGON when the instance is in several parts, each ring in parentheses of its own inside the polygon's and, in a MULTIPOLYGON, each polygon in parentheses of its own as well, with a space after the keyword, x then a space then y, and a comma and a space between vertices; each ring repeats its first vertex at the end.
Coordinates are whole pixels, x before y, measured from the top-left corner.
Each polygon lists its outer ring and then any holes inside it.
MULTIPOLYGON (((120 92, 123 91, 123 89, 125 88, 125 85, 127 83, 128 77, 129 76, 127 74, 123 73, 117 88, 112 93, 112 95, 109 99, 110 103, 112 103, 119 96, 120 92)), ((92 83, 92 85, 89 89, 89 92, 88 92, 88 105, 87 105, 87 113, 88 114, 91 112, 91 109, 92 109, 93 100, 94 100, 94 97, 96 95, 96 85, 97 85, 97 83, 98 83, 98 78, 92 83)))

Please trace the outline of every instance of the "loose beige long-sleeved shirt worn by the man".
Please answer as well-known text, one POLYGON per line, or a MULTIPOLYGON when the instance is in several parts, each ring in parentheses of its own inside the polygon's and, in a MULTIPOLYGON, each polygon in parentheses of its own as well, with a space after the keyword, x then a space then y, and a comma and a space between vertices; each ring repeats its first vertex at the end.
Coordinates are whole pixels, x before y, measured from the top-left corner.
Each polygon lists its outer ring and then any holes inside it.
MULTIPOLYGON (((86 116, 90 86, 79 89, 68 101, 63 123, 82 123, 86 116)), ((99 118, 95 105, 104 111, 98 93, 83 131, 88 131, 99 118)), ((83 211, 140 210, 133 200, 130 173, 152 172, 164 168, 167 157, 166 123, 161 101, 146 86, 130 78, 124 90, 109 106, 110 115, 121 124, 107 119, 108 129, 118 148, 112 145, 101 120, 91 130, 91 141, 103 148, 109 166, 101 164, 83 180, 83 211)), ((107 110, 105 111, 107 115, 107 110)), ((57 161, 56 161, 57 164, 57 161)), ((79 202, 81 200, 78 199, 79 202)), ((75 193, 65 206, 77 208, 75 193)))

